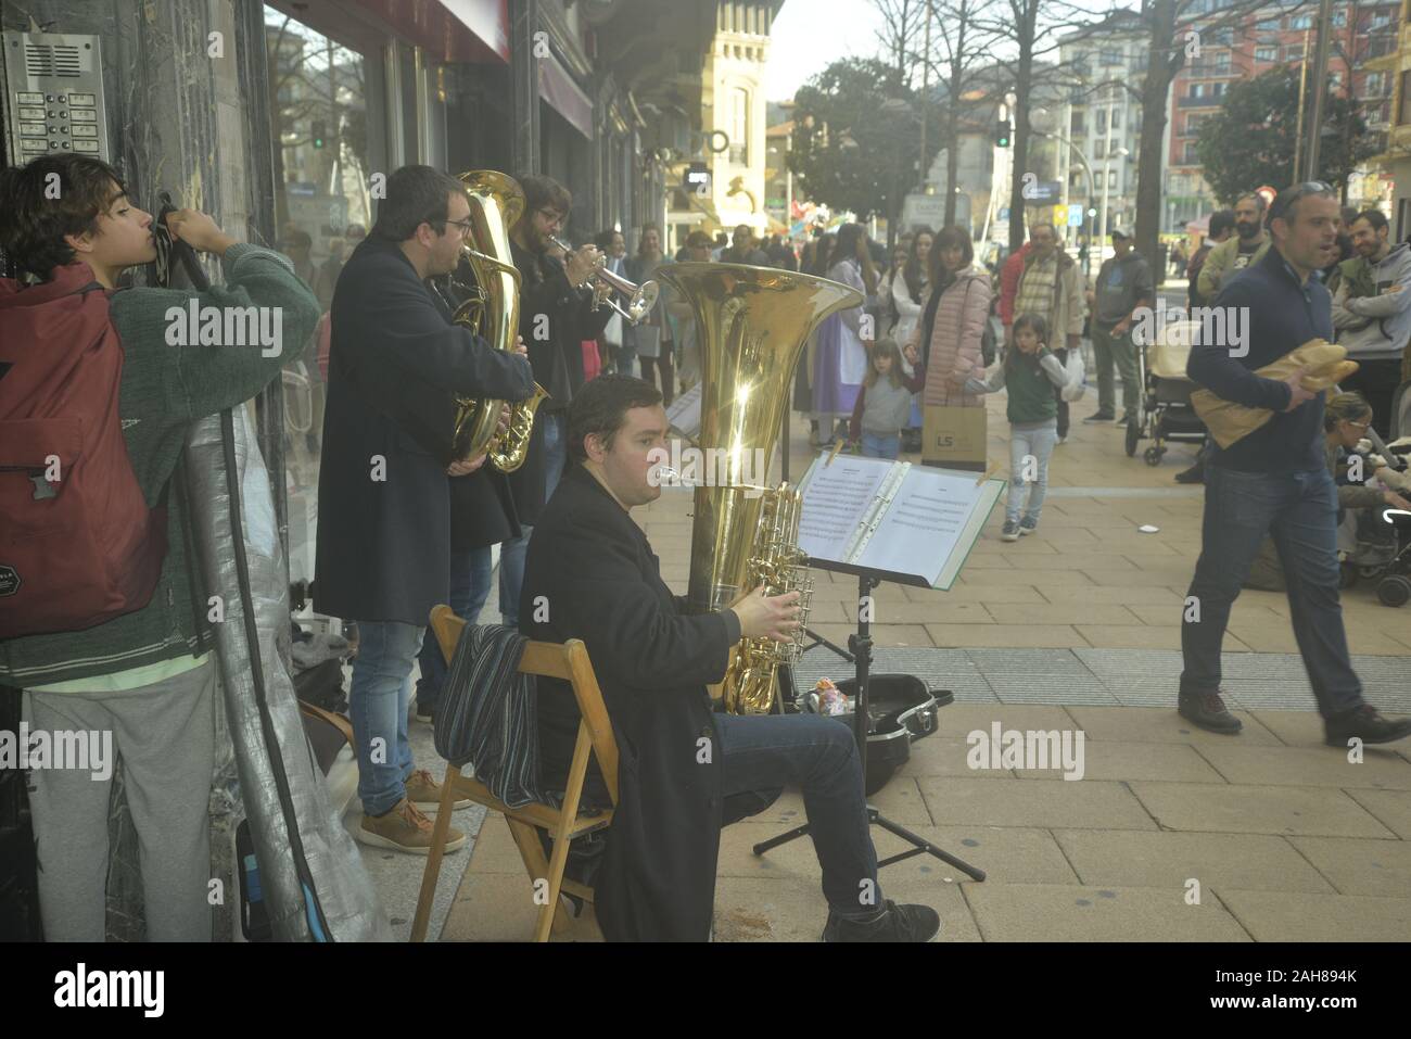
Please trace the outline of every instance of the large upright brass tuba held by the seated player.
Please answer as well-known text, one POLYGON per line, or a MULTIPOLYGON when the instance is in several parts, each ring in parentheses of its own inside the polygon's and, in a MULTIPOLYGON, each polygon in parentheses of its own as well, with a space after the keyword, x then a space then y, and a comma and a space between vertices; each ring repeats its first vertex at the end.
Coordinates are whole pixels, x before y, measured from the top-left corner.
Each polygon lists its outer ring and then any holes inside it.
MULTIPOLYGON (((807 615, 811 586, 809 560, 799 552, 800 496, 787 484, 768 487, 765 470, 804 342, 818 322, 859 306, 862 296, 825 278, 744 264, 666 264, 655 277, 696 313, 698 448, 717 462, 715 486, 696 487, 689 608, 724 610, 763 584, 770 596, 799 591, 807 615)), ((800 648, 801 634, 793 642, 741 639, 722 683, 725 709, 768 713, 775 671, 797 659, 800 648)))

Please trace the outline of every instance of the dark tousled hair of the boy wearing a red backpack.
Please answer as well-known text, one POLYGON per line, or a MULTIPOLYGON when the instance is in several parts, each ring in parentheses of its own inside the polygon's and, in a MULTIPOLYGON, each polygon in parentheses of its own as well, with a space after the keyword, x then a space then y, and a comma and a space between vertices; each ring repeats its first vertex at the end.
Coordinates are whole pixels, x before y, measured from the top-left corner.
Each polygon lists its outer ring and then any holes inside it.
POLYGON ((107 162, 87 155, 41 155, 28 165, 0 169, 0 248, 21 268, 48 280, 73 263, 65 234, 97 234, 97 219, 127 193, 107 162), (51 174, 58 181, 51 181, 51 174), (56 198, 51 184, 56 184, 56 198))

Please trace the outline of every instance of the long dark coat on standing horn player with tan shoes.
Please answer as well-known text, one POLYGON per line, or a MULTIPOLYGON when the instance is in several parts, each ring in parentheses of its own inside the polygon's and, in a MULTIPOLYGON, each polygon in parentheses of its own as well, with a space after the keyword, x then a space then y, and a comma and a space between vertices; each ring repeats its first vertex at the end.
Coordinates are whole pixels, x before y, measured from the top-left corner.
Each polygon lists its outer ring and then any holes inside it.
POLYGON ((452 392, 522 401, 532 390, 525 359, 447 323, 396 243, 353 251, 333 295, 315 610, 426 624, 450 599, 452 477, 433 450, 452 392))

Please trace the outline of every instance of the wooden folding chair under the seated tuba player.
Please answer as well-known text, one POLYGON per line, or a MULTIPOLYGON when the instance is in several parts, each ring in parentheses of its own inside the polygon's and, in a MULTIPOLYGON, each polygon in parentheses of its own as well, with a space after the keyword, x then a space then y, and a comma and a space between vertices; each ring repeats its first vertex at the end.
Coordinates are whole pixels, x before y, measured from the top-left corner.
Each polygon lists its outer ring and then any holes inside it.
MULTIPOLYGON (((432 631, 436 632, 436 641, 440 644, 442 655, 447 663, 456 654, 456 645, 460 642, 460 632, 464 627, 466 621, 460 620, 449 606, 437 606, 432 610, 432 631)), ((505 817, 515 847, 519 848, 519 857, 529 872, 535 896, 540 898, 547 894, 547 901, 539 909, 539 919, 535 925, 535 942, 547 942, 550 930, 562 930, 567 925, 569 918, 560 905, 560 892, 566 891, 586 902, 593 902, 593 888, 564 879, 563 868, 569 861, 569 841, 581 834, 607 829, 612 822, 612 809, 602 810, 595 816, 579 815, 579 799, 583 795, 590 752, 598 759, 598 768, 602 771, 614 809, 618 803, 617 740, 612 735, 607 707, 602 704, 598 679, 593 673, 587 647, 577 638, 562 645, 559 642, 529 642, 519 661, 519 672, 557 678, 571 683, 573 696, 583 714, 583 721, 579 724, 579 740, 573 747, 573 764, 569 767, 569 789, 563 799, 563 807, 539 802, 509 807, 501 803, 484 783, 463 776, 456 765, 447 764, 430 854, 426 857, 426 872, 422 875, 422 894, 416 901, 416 918, 412 920, 412 942, 426 940, 426 926, 430 919, 432 898, 436 894, 436 878, 440 875, 446 834, 450 830, 450 816, 453 805, 461 798, 470 798, 505 817), (547 861, 543 857, 539 830, 546 831, 553 839, 553 854, 547 861), (540 891, 539 881, 547 881, 547 892, 540 891)))

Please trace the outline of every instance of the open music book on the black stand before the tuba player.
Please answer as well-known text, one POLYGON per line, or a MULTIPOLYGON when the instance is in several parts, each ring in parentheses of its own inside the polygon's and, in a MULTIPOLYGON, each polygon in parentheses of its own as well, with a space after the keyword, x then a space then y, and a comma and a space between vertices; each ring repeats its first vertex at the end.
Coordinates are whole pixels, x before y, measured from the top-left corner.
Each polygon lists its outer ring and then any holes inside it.
POLYGON ((1005 481, 910 462, 820 455, 799 484, 799 548, 811 565, 947 590, 1005 481))

